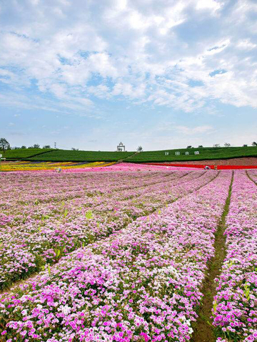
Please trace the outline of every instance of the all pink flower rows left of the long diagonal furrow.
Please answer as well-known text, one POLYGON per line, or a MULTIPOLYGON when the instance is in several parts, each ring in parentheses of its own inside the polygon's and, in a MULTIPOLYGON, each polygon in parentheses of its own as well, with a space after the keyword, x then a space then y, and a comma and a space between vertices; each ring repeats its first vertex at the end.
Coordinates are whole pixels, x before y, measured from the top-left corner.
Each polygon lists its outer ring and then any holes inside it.
MULTIPOLYGON (((6 190, 7 207, 6 197, 2 198, 6 209, 0 217, 0 287, 26 278, 46 263, 56 263, 74 249, 107 237, 133 219, 206 185, 216 175, 215 172, 153 172, 133 184, 133 174, 129 173, 119 185, 110 182, 109 175, 86 175, 86 179, 83 174, 76 175, 75 182, 71 182, 71 177, 58 176, 56 184, 51 177, 42 179, 42 175, 21 174, 20 180, 15 175, 15 181, 6 190), (26 186, 18 195, 14 190, 24 180, 26 186), (86 192, 82 187, 85 180, 91 182, 86 192)), ((6 175, 6 179, 10 181, 11 175, 6 175)))

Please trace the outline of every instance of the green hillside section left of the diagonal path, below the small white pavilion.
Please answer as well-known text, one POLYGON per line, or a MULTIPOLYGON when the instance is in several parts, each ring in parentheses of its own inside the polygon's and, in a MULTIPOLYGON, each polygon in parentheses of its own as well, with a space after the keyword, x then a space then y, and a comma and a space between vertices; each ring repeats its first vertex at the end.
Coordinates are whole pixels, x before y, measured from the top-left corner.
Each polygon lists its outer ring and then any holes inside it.
POLYGON ((102 151, 71 151, 53 150, 36 155, 29 160, 41 160, 51 162, 116 162, 133 155, 134 152, 102 152, 102 151))

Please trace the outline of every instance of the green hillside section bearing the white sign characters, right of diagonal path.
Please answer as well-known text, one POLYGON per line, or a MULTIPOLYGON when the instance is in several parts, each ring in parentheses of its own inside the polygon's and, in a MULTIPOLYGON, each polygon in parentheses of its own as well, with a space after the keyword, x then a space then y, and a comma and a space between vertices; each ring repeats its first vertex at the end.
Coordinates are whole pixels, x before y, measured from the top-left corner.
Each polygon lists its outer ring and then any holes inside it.
POLYGON ((202 147, 202 148, 183 148, 176 150, 146 151, 140 152, 129 158, 129 162, 184 162, 191 160, 213 160, 228 159, 238 157, 257 157, 257 147, 202 147), (175 152, 180 152, 176 155, 175 152), (194 152, 199 151, 199 155, 194 152), (165 155, 168 152, 168 155, 165 155), (189 155, 185 155, 189 152, 189 155))

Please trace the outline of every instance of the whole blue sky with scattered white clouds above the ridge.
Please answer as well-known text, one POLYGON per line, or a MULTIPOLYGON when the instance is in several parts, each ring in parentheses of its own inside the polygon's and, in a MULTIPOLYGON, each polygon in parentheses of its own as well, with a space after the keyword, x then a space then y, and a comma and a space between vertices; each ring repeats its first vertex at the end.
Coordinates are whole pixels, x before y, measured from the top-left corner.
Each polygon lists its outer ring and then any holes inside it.
POLYGON ((0 0, 0 138, 257 141, 257 0, 0 0))

